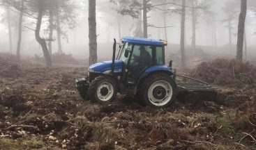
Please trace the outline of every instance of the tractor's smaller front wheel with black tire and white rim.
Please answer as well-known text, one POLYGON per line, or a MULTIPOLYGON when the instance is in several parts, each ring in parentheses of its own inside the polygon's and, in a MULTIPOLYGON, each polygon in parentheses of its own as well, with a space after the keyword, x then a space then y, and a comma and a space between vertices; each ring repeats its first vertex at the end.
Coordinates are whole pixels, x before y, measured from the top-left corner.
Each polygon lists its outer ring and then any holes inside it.
POLYGON ((89 99, 98 103, 110 103, 114 101, 117 89, 117 83, 114 78, 111 76, 99 76, 91 82, 89 87, 89 99), (103 87, 104 85, 105 87, 103 87), (103 88, 101 88, 100 92, 98 92, 98 88, 100 88, 100 86, 103 88), (110 94, 110 96, 107 96, 107 94, 110 94), (104 99, 103 97, 107 98, 104 99))

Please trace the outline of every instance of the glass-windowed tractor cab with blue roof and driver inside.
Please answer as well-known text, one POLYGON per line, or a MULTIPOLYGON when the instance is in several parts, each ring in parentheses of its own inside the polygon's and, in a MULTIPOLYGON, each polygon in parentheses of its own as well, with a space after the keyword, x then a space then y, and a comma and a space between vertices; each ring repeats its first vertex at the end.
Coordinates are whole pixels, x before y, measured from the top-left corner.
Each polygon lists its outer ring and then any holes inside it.
POLYGON ((137 85, 140 77, 165 66, 165 43, 160 40, 143 38, 123 38, 117 60, 123 63, 122 81, 127 85, 137 85))

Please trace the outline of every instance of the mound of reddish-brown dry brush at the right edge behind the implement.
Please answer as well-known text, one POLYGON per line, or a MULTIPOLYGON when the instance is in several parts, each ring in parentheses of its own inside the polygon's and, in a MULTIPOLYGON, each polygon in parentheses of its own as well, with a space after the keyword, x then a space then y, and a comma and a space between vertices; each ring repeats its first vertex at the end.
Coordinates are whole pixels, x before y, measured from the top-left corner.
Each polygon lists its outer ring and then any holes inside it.
POLYGON ((204 62, 193 69, 190 75, 208 83, 229 87, 254 88, 256 83, 256 67, 238 60, 204 62))

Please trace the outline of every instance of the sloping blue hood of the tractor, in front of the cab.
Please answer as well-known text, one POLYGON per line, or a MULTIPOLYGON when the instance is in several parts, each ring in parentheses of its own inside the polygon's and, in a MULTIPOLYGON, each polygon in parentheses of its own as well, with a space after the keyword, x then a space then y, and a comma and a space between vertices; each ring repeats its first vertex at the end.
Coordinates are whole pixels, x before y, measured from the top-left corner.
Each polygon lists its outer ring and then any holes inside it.
MULTIPOLYGON (((111 67, 112 67, 112 61, 96 63, 89 67, 89 72, 104 73, 106 71, 110 71, 111 67)), ((123 61, 116 60, 114 62, 114 72, 122 72, 122 71, 123 71, 123 61)))

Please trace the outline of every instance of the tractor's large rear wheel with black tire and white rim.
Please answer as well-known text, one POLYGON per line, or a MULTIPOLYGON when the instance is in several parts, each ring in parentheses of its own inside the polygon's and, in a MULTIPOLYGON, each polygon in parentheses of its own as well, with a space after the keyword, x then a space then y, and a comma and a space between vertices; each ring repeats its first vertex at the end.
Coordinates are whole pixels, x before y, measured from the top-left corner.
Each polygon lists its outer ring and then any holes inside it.
POLYGON ((176 97, 176 83, 174 79, 171 78, 171 76, 169 76, 168 74, 153 74, 152 76, 149 76, 144 80, 141 88, 143 88, 142 99, 147 106, 153 106, 158 108, 167 107, 174 102, 174 99, 176 97), (172 91, 169 91, 168 89, 172 91), (151 90, 152 92, 149 92, 149 90, 151 90), (153 102, 155 100, 161 101, 161 99, 163 99, 162 102, 153 102))

